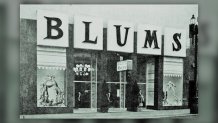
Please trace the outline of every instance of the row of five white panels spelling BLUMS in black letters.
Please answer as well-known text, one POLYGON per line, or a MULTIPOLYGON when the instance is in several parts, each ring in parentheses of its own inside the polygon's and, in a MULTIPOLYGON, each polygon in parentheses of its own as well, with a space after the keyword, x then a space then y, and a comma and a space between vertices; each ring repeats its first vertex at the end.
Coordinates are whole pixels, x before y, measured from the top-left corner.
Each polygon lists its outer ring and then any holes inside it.
MULTIPOLYGON (((68 47, 68 17, 54 12, 37 12, 37 45, 68 47)), ((74 16, 74 48, 103 50, 103 20, 96 17, 74 16)), ((107 50, 134 52, 134 24, 108 21, 107 50)), ((139 54, 186 57, 186 30, 139 24, 137 27, 139 54), (164 32, 164 42, 161 36, 164 32), (164 46, 162 47, 162 44, 164 46), (164 50, 162 50, 164 48, 164 50), (163 52, 162 52, 163 51, 163 52)), ((106 39, 106 38, 105 38, 106 39)))

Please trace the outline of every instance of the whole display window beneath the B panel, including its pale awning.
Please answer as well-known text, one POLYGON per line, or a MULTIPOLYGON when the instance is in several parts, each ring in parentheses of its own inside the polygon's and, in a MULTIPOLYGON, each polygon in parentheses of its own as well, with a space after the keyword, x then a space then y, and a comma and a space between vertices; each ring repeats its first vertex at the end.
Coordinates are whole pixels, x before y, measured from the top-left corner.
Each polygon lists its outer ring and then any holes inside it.
POLYGON ((37 46, 37 107, 66 107, 66 49, 37 46))

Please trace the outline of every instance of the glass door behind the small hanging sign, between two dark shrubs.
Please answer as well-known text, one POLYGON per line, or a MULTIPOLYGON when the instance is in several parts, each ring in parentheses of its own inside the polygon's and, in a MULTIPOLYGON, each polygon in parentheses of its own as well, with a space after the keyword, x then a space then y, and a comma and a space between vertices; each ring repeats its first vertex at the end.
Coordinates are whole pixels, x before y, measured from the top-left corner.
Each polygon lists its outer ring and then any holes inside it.
POLYGON ((110 92, 109 112, 125 110, 126 71, 117 71, 117 62, 122 60, 117 54, 107 56, 107 85, 110 92))

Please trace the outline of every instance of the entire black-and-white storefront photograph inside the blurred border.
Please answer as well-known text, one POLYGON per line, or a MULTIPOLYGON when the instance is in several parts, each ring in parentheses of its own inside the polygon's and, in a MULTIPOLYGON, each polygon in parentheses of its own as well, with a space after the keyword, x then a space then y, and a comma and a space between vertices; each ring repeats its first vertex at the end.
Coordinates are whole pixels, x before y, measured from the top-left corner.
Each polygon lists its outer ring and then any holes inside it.
POLYGON ((20 4, 20 119, 198 116, 198 4, 20 4))

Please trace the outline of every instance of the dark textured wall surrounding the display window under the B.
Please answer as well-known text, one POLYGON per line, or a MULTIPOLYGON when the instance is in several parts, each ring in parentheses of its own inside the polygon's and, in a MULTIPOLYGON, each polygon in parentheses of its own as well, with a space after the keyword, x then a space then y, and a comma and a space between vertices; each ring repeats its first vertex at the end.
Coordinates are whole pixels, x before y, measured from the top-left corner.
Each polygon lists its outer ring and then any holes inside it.
MULTIPOLYGON (((36 21, 20 20, 20 114, 73 112, 73 91, 67 91, 67 107, 37 107, 37 44, 36 21)), ((70 25, 69 31, 73 31, 70 25)), ((73 42, 72 36, 70 44, 73 42)), ((72 46, 72 45, 70 45, 72 46)), ((73 48, 67 49, 67 90, 73 90, 73 48)))

